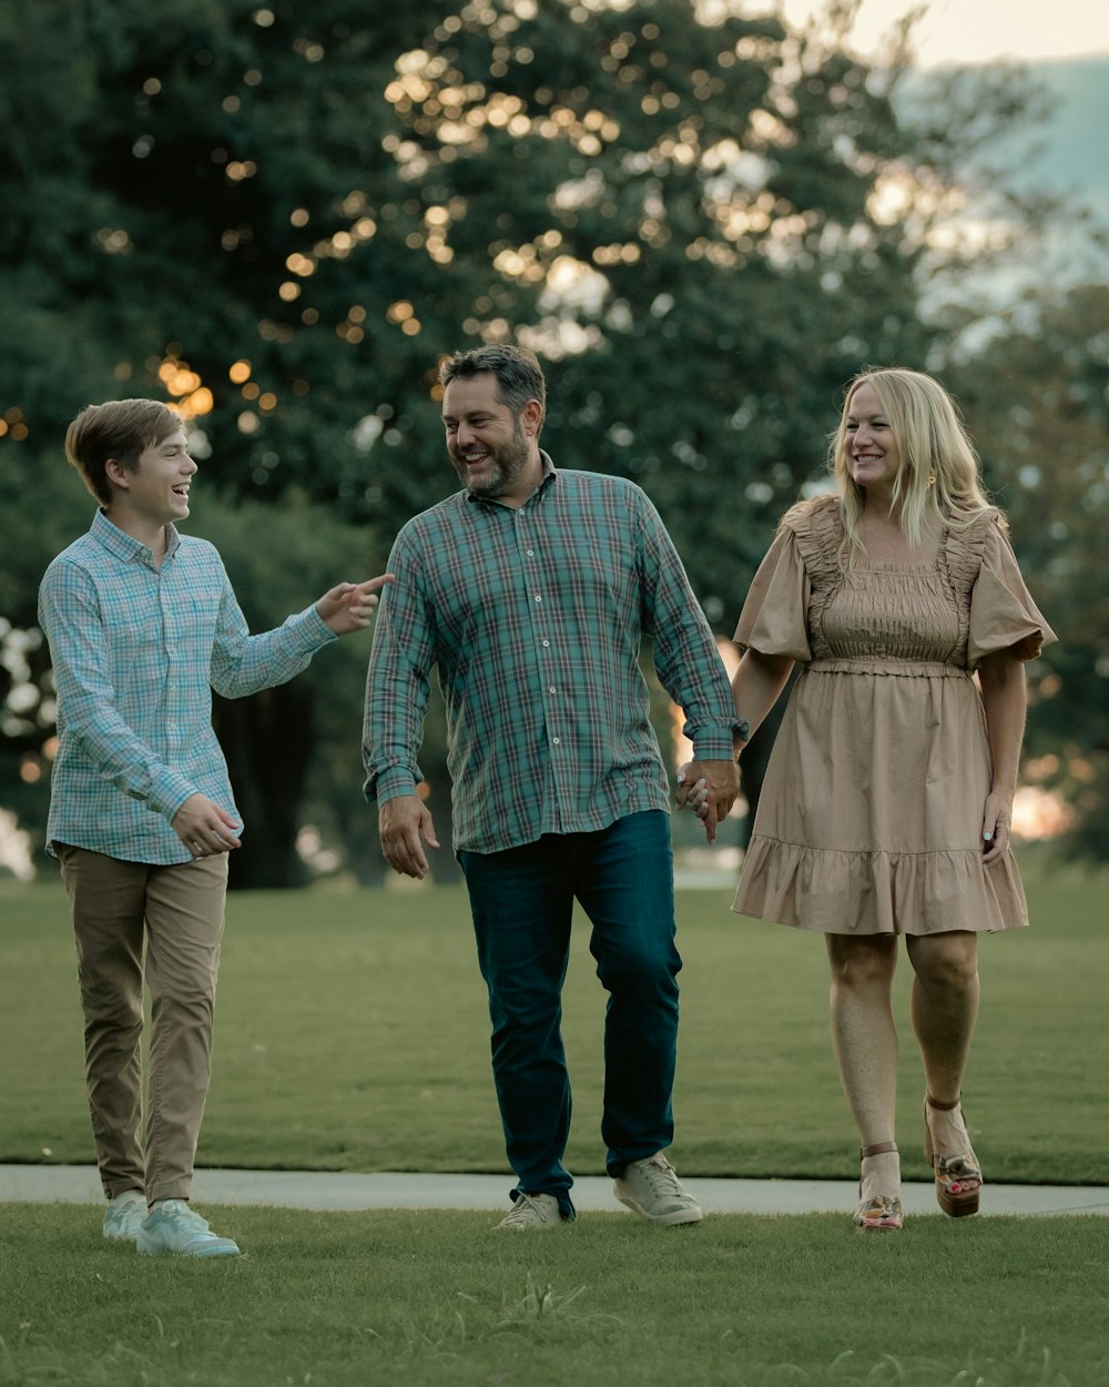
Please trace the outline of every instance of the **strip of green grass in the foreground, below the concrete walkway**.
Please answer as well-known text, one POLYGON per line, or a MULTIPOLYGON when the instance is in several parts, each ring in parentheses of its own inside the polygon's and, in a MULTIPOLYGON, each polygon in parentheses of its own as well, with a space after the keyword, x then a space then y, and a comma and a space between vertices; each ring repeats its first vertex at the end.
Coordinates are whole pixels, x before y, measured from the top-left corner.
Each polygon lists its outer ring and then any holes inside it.
POLYGON ((219 1209, 247 1255, 105 1244, 8 1205, 0 1384, 1102 1387, 1109 1221, 833 1215, 539 1234, 488 1214, 219 1209), (1101 1327, 1099 1327, 1101 1326, 1101 1327))

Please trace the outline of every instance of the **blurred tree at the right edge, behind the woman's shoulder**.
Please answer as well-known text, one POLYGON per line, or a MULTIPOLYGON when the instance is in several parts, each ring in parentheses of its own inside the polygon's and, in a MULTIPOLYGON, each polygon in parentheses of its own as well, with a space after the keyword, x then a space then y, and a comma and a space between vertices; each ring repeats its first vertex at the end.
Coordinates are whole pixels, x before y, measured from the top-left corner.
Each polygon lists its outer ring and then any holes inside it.
POLYGON ((1109 859, 1109 286, 1044 288, 945 372, 1059 637, 1029 666, 1024 778, 1074 811, 1063 847, 1109 859))

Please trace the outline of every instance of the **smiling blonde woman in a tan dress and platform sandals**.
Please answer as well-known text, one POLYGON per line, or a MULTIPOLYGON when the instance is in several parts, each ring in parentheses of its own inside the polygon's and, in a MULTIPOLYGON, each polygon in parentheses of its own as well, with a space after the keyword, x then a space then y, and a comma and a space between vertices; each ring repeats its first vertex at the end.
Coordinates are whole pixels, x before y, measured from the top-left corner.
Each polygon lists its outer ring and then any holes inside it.
MULTIPOLYGON (((833 1047, 862 1147, 854 1222, 891 1230, 902 1223, 890 1006, 901 935, 925 1155, 944 1212, 979 1208, 961 1108, 976 945, 981 931, 1027 924, 1009 850, 1022 662, 1055 637, 932 377, 886 369, 851 381, 829 470, 836 494, 783 517, 736 630, 737 752, 794 662, 803 671, 733 908, 825 935, 833 1047)), ((696 806, 697 785, 681 799, 696 806)))

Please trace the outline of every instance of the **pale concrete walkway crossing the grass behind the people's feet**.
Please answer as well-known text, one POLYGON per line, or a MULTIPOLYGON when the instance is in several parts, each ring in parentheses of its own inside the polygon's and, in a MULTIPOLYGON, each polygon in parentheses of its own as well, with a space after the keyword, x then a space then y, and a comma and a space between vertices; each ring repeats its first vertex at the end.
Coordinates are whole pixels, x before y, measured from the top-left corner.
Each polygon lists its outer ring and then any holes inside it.
MULTIPOLYGON (((266 1204, 299 1209, 507 1209, 510 1175, 348 1175, 327 1171, 197 1171, 193 1200, 266 1204)), ((850 1212, 850 1180, 689 1179, 706 1214, 850 1212)), ((907 1214, 936 1214, 932 1184, 905 1184, 907 1214)), ((98 1204, 104 1198, 91 1165, 0 1165, 0 1203, 98 1204)), ((579 1212, 624 1212, 603 1176, 574 1184, 579 1212)), ((1076 1184, 987 1184, 983 1214, 1109 1214, 1109 1187, 1076 1184)))

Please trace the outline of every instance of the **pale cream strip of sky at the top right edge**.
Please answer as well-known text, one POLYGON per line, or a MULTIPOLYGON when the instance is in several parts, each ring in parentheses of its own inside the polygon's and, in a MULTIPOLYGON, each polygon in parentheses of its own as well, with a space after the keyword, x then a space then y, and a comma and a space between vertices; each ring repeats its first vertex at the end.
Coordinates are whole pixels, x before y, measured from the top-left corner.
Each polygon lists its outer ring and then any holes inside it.
MULTIPOLYGON (((855 47, 872 51, 882 35, 919 0, 862 0, 855 47)), ((825 0, 782 0, 786 17, 803 21, 825 0)), ((767 0, 767 8, 772 8, 767 0)), ((988 62, 991 58, 1063 58, 1109 54, 1108 0, 930 0, 916 25, 922 67, 988 62)))

